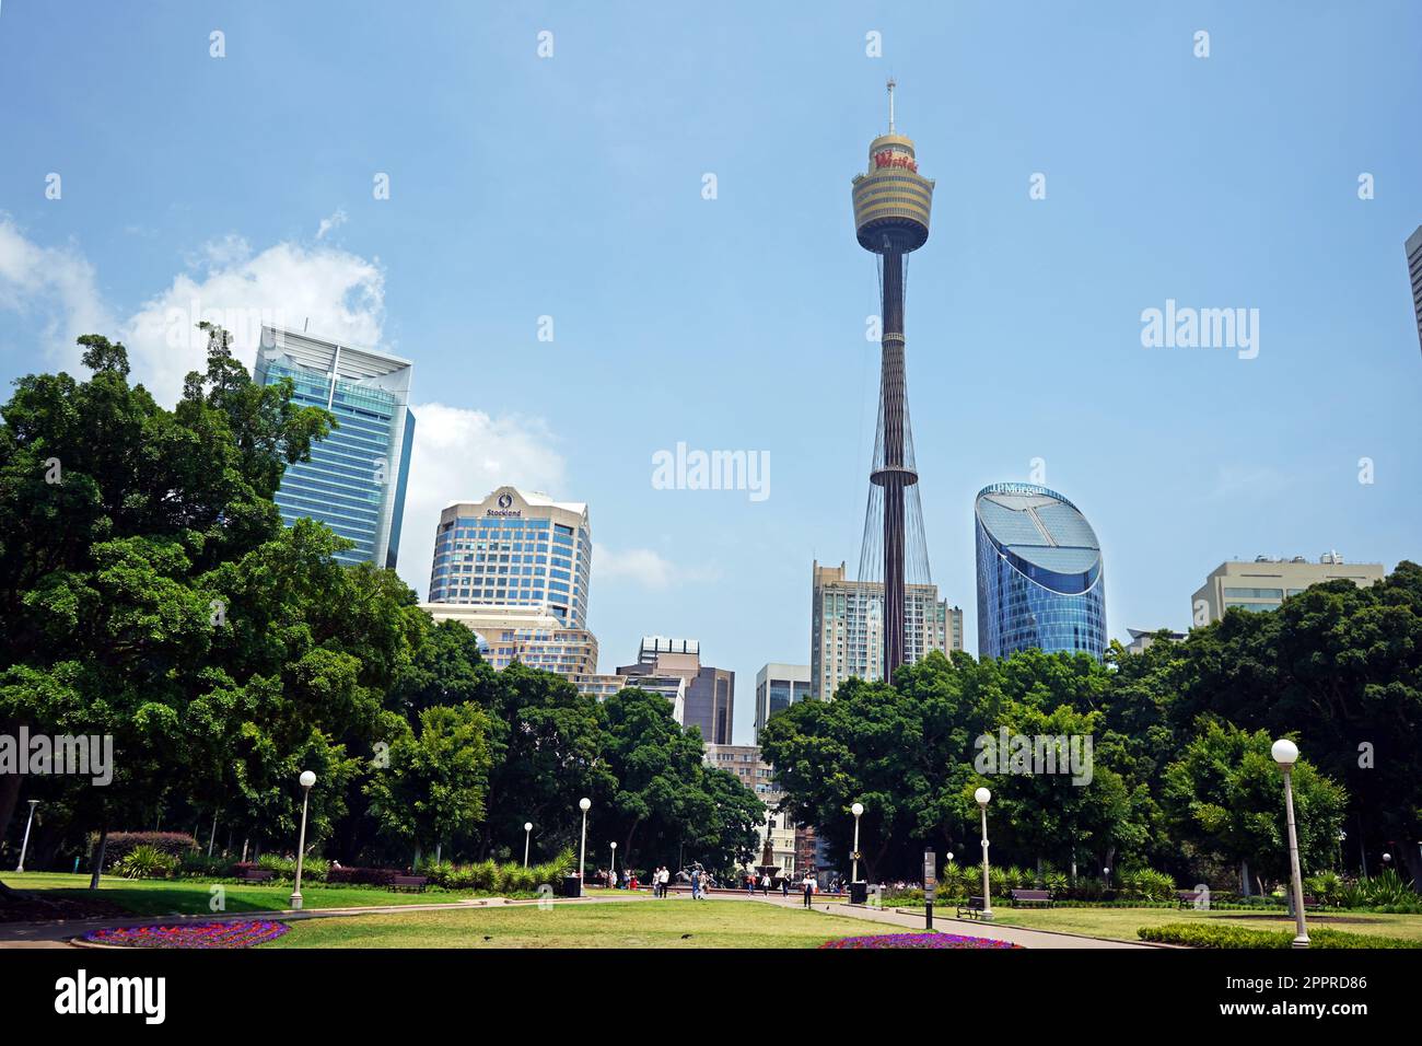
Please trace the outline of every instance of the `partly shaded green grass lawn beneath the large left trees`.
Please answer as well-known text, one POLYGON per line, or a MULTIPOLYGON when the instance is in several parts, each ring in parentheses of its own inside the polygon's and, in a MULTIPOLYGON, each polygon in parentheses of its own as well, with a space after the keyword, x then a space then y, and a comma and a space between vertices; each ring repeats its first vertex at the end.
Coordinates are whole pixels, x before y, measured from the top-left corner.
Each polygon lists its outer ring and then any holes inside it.
MULTIPOLYGON (((57 897, 94 898, 88 889, 88 872, 4 872, 0 875, 11 889, 54 891, 57 897)), ((292 885, 222 884, 226 891, 228 912, 280 911, 290 907, 292 885)), ((105 875, 100 879, 98 899, 134 912, 135 915, 192 915, 212 911, 212 884, 196 879, 125 879, 105 875)), ((475 897, 474 892, 425 891, 422 894, 395 892, 374 887, 323 887, 301 884, 304 908, 358 908, 392 904, 438 904, 475 897)))

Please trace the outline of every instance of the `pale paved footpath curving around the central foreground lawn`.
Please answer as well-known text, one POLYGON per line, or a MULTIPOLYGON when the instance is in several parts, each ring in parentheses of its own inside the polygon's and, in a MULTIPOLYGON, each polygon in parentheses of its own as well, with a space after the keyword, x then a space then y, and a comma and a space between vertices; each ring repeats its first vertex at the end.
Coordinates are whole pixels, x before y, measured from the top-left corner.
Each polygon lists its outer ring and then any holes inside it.
MULTIPOLYGON (((757 904, 771 904, 781 908, 803 908, 798 898, 781 898, 751 895, 732 891, 717 891, 712 901, 755 901, 757 904)), ((555 898, 552 904, 691 904, 685 894, 674 895, 667 901, 653 901, 650 895, 638 894, 607 894, 600 889, 589 889, 582 898, 555 898)), ((505 898, 476 898, 468 901, 452 901, 438 904, 405 904, 380 905, 370 908, 306 908, 303 911, 266 911, 266 912, 202 912, 196 915, 144 915, 132 918, 108 919, 60 919, 55 922, 0 922, 0 948, 74 948, 70 944, 74 938, 82 936, 92 929, 109 926, 171 926, 182 922, 240 922, 243 919, 280 919, 296 922, 299 919, 340 919, 360 918, 361 915, 402 915, 405 912, 434 912, 456 911, 468 908, 503 908, 536 905, 539 901, 509 901, 505 898)), ((546 904, 546 902, 545 902, 546 904)), ((923 915, 899 911, 893 908, 867 908, 849 904, 818 902, 815 911, 825 911, 830 915, 843 915, 866 922, 889 924, 904 929, 923 929, 923 915)), ((1075 934, 1055 934, 1045 929, 1025 929, 1022 926, 1003 926, 993 922, 977 922, 968 919, 951 919, 934 916, 934 929, 947 934, 966 934, 970 936, 985 936, 993 941, 1008 941, 1024 948, 1150 948, 1153 945, 1129 944, 1126 941, 1102 941, 1099 938, 1078 936, 1075 934)))

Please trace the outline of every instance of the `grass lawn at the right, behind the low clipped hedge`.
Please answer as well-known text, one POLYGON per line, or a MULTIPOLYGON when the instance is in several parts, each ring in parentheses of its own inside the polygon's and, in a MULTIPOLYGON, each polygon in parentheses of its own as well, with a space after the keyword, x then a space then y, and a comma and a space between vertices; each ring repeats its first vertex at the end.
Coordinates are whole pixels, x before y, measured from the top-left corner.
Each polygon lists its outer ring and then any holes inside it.
MULTIPOLYGON (((951 915, 951 911, 948 912, 951 915)), ((1287 929, 1294 919, 1287 914, 1260 912, 1202 912, 1193 908, 993 908, 993 921, 1005 926, 1058 929, 1064 934, 1139 941, 1139 926, 1160 926, 1166 922, 1227 922, 1250 929, 1287 929)), ((1308 912, 1308 926, 1344 929, 1352 934, 1401 936, 1422 941, 1422 915, 1389 915, 1384 912, 1308 912)))

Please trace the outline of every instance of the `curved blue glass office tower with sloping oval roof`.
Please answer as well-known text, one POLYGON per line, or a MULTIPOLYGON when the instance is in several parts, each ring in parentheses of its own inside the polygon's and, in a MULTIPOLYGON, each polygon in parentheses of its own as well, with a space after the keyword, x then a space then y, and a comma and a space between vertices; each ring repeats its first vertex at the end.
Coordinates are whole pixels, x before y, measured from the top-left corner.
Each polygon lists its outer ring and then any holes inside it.
POLYGON ((1066 498, 1028 482, 984 487, 974 504, 978 657, 1038 648, 1106 649, 1101 542, 1066 498))

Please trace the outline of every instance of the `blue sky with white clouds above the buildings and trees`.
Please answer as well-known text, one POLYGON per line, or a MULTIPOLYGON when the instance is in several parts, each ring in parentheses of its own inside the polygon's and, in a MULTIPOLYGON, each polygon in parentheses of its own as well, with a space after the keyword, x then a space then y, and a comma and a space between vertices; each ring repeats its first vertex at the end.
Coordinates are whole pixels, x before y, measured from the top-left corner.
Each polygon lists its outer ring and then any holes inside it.
POLYGON ((970 650, 990 482, 1081 508, 1121 639, 1186 628, 1224 559, 1422 556, 1419 38, 1406 0, 0 0, 0 381, 98 332, 171 403, 213 312, 249 366, 253 317, 410 359, 401 576, 451 501, 586 501, 602 670, 700 639, 748 743, 759 666, 809 659, 812 562, 856 568, 850 179, 889 75, 937 182, 909 400, 970 650), (1167 302, 1251 344, 1143 344, 1167 302), (678 444, 768 487, 654 484, 678 444))

